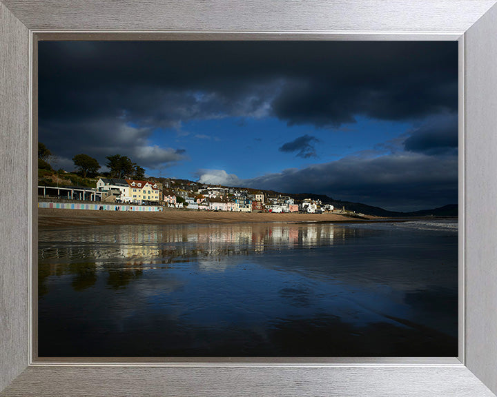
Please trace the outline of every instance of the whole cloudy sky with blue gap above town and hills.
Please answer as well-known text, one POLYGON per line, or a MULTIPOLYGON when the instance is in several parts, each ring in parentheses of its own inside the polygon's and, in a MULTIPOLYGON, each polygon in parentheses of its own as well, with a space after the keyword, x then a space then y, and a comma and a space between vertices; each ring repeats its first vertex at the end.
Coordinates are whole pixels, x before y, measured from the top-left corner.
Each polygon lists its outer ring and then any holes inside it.
POLYGON ((123 154, 150 176, 457 203, 458 45, 42 41, 39 141, 66 170, 123 154))

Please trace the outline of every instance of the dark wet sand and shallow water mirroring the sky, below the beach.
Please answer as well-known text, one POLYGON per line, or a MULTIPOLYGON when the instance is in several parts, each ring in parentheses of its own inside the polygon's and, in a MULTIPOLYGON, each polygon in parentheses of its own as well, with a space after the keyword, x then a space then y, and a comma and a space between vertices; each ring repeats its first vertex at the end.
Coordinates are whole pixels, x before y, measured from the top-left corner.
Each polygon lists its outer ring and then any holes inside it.
POLYGON ((39 356, 457 356, 456 219, 39 231, 39 356))

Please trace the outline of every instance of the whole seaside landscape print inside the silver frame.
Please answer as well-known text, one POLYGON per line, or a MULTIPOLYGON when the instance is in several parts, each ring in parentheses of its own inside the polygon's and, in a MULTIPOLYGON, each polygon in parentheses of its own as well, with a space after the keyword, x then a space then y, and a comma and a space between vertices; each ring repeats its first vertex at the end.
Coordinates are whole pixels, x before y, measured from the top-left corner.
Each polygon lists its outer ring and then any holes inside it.
POLYGON ((458 356, 457 41, 37 37, 35 362, 458 356))

